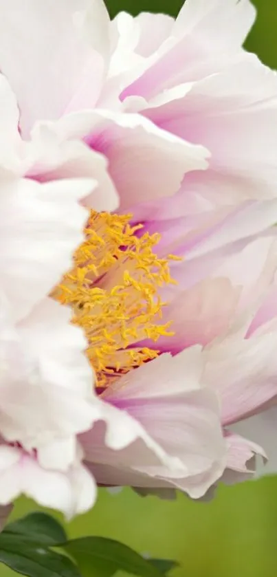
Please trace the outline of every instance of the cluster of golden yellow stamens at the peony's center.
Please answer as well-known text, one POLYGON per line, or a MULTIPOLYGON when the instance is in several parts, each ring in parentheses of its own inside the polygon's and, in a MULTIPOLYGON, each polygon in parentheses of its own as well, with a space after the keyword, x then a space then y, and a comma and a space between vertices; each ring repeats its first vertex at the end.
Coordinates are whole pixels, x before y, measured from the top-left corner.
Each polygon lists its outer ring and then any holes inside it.
POLYGON ((173 283, 168 260, 159 259, 153 247, 159 235, 137 237, 131 215, 95 213, 91 210, 85 242, 74 255, 74 268, 52 296, 71 305, 72 322, 87 336, 87 357, 96 372, 97 387, 158 356, 157 349, 140 346, 171 333, 161 323, 166 303, 159 287, 173 283))

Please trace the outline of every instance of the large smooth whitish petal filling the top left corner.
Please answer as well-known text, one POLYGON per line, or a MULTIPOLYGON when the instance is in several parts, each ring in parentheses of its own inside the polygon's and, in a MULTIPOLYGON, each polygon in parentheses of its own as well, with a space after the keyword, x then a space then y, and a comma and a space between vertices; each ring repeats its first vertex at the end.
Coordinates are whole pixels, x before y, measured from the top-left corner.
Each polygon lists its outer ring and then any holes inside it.
POLYGON ((0 69, 19 100, 25 133, 74 100, 82 108, 96 102, 109 54, 107 20, 102 0, 1 1, 0 69))

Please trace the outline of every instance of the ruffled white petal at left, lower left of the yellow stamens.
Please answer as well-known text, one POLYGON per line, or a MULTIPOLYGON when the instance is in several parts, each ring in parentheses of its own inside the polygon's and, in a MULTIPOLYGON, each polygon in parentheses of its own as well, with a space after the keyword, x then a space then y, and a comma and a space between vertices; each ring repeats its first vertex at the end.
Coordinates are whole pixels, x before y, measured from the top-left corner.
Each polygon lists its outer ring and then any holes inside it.
POLYGON ((61 470, 75 459, 76 434, 102 415, 86 340, 69 320, 69 310, 49 299, 17 330, 2 319, 0 334, 1 434, 61 470))

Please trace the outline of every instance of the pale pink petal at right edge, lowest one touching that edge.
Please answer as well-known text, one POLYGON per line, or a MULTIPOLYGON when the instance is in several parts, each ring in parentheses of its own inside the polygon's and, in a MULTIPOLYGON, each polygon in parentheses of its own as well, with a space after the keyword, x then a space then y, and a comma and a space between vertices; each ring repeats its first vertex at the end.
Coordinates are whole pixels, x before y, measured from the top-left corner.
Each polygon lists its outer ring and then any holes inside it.
POLYGON ((248 339, 239 329, 206 349, 203 383, 219 395, 223 424, 258 411, 277 394, 276 346, 276 328, 248 339))

